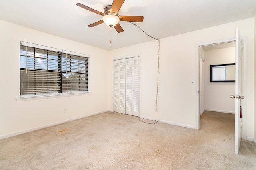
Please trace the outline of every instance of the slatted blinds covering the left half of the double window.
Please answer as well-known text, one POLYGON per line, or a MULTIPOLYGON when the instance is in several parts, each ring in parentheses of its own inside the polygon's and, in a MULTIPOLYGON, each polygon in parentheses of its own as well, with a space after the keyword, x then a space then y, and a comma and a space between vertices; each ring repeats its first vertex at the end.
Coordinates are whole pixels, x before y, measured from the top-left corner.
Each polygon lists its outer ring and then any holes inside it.
POLYGON ((20 96, 60 93, 60 53, 20 45, 20 96))

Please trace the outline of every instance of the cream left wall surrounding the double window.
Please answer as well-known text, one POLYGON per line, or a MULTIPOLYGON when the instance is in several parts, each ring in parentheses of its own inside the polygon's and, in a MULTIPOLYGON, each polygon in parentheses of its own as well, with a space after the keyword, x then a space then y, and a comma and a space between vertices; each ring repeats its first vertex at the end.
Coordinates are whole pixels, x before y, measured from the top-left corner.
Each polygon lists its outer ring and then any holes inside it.
POLYGON ((3 20, 0 28, 0 138, 110 109, 111 65, 106 65, 107 51, 3 20), (16 101, 20 83, 20 40, 90 55, 92 94, 16 101))

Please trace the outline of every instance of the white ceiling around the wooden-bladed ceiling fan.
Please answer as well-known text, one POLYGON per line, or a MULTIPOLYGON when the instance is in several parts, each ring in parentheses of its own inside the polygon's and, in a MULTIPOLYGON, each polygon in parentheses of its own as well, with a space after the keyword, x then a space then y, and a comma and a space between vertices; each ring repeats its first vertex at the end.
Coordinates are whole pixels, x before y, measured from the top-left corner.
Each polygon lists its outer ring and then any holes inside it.
MULTIPOLYGON (((76 6, 78 2, 104 13, 113 0, 0 0, 0 19, 106 50, 154 40, 129 22, 124 32, 102 23, 102 16, 76 6)), ((119 15, 144 16, 136 23, 147 34, 165 38, 251 18, 256 0, 126 0, 119 15)))

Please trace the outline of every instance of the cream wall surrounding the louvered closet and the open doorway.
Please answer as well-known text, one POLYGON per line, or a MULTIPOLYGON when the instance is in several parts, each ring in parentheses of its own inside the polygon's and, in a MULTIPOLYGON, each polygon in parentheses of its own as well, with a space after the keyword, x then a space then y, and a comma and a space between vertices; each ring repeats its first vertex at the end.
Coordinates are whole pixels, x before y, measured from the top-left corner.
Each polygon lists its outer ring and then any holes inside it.
MULTIPOLYGON (((214 26, 194 32, 162 38, 160 40, 160 70, 158 111, 156 111, 156 86, 158 66, 158 41, 140 43, 110 51, 110 58, 140 54, 141 57, 141 116, 162 122, 195 128, 196 44, 235 37, 238 27, 247 36, 247 61, 254 61, 253 18, 214 26)), ((142 28, 146 31, 145 28, 142 28)), ((142 33, 143 34, 143 33, 142 33)), ((154 36, 154 35, 152 35, 154 36)), ((253 136, 254 115, 254 64, 247 63, 247 134, 253 136)))

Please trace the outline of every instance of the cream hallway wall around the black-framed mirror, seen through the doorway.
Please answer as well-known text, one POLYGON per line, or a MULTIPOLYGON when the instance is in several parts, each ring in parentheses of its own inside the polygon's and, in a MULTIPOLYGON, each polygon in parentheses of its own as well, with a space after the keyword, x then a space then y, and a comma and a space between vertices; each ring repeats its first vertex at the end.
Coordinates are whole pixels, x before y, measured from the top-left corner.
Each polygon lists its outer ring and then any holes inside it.
POLYGON ((210 65, 235 63, 235 47, 204 51, 204 110, 235 113, 233 82, 210 82, 210 65))

